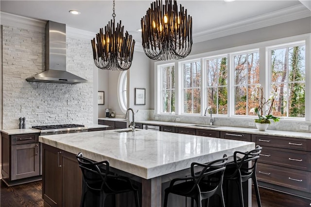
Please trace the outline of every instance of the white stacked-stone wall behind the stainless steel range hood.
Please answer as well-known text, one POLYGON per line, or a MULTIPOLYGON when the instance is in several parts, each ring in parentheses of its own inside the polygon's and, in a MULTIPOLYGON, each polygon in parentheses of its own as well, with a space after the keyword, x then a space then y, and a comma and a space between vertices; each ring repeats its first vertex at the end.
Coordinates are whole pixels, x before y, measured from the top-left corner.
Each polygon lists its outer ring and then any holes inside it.
POLYGON ((25 79, 45 69, 42 32, 3 25, 3 129, 44 124, 93 124, 93 69, 89 41, 68 38, 67 70, 88 82, 67 85, 25 79))

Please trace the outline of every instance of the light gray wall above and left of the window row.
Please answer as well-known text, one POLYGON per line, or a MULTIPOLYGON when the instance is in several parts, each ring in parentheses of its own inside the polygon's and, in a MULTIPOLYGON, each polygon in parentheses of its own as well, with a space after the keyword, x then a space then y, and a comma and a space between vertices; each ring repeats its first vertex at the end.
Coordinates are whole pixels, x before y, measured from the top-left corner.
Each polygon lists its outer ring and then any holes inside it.
MULTIPOLYGON (((232 48, 242 45, 264 42, 273 39, 279 39, 294 35, 302 35, 311 33, 311 17, 297 19, 286 23, 276 24, 269 27, 264 27, 240 34, 224 36, 216 39, 211 39, 205 42, 195 43, 192 45, 190 55, 204 52, 211 52, 232 48)), ((155 96, 154 88, 155 79, 155 64, 150 63, 150 96, 155 96)), ((151 100, 150 109, 155 108, 155 101, 151 100)))

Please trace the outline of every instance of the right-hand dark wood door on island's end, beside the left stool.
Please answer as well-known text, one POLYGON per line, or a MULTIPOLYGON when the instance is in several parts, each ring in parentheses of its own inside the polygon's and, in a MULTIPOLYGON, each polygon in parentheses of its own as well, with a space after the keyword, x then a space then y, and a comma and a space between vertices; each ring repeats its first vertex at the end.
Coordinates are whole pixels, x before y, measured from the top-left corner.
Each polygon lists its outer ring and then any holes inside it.
POLYGON ((62 206, 79 207, 82 195, 82 172, 76 155, 62 152, 62 206))

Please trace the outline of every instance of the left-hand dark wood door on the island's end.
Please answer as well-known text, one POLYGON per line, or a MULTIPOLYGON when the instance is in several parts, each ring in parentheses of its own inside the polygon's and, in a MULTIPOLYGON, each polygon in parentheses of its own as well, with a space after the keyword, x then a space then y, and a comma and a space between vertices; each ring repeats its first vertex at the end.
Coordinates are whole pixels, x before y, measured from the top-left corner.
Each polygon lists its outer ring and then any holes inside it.
POLYGON ((42 198, 51 207, 62 206, 61 153, 60 150, 43 144, 42 198))

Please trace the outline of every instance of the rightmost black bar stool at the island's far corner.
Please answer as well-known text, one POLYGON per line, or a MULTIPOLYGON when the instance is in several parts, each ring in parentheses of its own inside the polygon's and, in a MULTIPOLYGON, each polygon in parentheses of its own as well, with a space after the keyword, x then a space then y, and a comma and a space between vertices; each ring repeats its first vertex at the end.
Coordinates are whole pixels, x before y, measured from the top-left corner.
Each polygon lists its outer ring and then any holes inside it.
MULTIPOLYGON (((224 174, 224 182, 226 181, 235 181, 239 187, 239 198, 241 207, 244 207, 243 202, 243 190, 242 183, 248 181, 248 179, 252 179, 255 187, 256 200, 258 207, 261 207, 260 195, 258 189, 258 182, 256 176, 256 166, 257 160, 259 158, 259 154, 261 153, 262 147, 259 145, 256 146, 254 150, 249 152, 234 152, 233 162, 228 162, 225 169, 224 174), (242 158, 241 158, 242 157, 242 158), (248 163, 251 161, 251 167, 248 167, 248 163)), ((226 194, 228 195, 228 190, 233 191, 232 189, 227 189, 226 194)))

